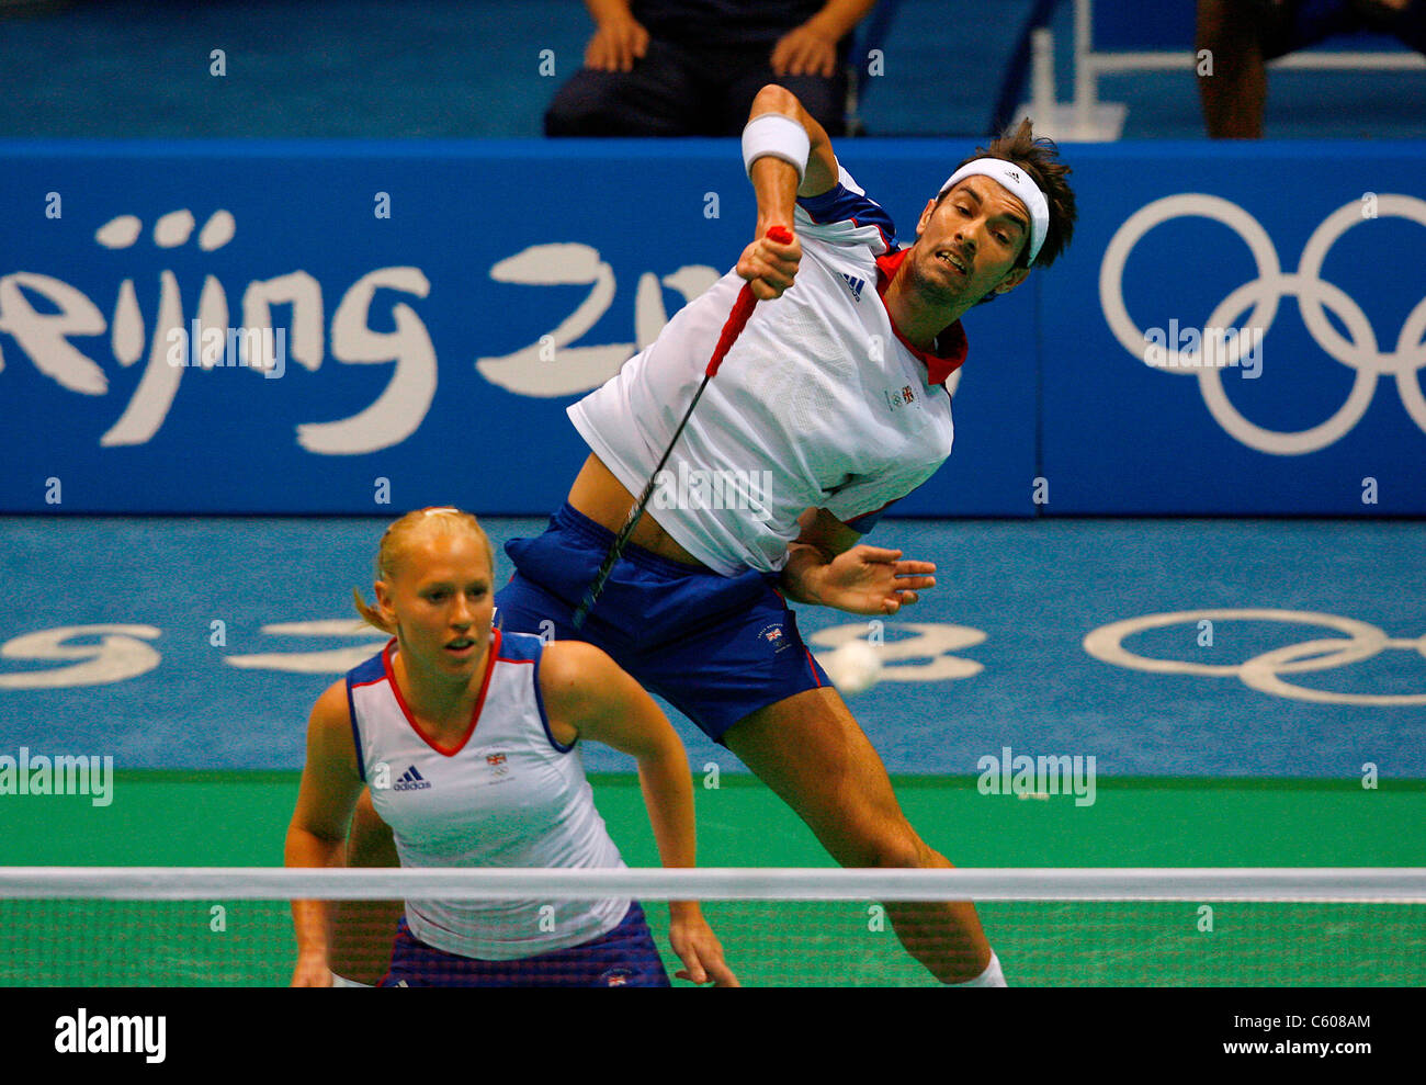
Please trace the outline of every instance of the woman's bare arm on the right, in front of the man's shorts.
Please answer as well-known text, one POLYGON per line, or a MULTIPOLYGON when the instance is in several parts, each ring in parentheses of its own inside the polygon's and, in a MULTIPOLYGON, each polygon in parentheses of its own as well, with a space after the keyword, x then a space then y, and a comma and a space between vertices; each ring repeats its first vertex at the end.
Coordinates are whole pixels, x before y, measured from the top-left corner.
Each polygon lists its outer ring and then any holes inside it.
MULTIPOLYGON (((562 743, 590 739, 632 756, 665 867, 696 858, 693 778, 683 743, 643 687, 593 644, 562 640, 545 647, 540 693, 550 730, 562 743)), ((680 979, 737 987, 723 947, 696 901, 669 903, 669 941, 684 964, 680 979)))

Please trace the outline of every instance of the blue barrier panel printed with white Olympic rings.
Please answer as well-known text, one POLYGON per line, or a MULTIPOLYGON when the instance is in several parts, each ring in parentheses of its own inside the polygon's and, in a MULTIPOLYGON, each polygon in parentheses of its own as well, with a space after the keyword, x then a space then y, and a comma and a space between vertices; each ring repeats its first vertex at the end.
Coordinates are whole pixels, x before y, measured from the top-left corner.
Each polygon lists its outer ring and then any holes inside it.
POLYGON ((1067 157, 1079 227, 1041 281, 1047 512, 1426 512, 1426 147, 1067 157))

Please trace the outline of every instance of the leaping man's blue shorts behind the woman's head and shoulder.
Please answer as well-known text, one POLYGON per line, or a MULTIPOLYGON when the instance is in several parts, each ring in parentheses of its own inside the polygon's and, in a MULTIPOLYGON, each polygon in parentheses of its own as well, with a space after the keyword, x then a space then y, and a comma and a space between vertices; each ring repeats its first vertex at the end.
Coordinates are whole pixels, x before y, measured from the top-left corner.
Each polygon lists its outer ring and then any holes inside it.
POLYGON ((499 624, 596 644, 717 743, 750 713, 831 684, 776 573, 720 576, 629 545, 576 630, 569 619, 613 540, 565 505, 539 538, 505 543, 516 572, 495 596, 499 624))

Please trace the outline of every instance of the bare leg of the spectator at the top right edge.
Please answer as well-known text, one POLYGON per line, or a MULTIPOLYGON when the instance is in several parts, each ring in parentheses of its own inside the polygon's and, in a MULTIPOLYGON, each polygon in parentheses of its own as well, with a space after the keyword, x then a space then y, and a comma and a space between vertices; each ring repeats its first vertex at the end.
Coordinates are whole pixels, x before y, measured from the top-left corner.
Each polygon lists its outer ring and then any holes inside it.
POLYGON ((1256 10, 1251 0, 1198 0, 1196 48, 1212 54, 1212 74, 1199 76, 1198 88, 1215 140, 1262 138, 1268 70, 1256 10))

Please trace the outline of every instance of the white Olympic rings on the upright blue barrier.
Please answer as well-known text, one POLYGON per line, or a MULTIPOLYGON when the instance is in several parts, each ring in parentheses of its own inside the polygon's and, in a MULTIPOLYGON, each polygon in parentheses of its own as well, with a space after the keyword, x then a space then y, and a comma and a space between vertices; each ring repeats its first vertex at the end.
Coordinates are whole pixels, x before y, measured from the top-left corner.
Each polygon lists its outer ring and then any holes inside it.
MULTIPOLYGON (((1409 218, 1426 225, 1426 200, 1410 195, 1380 195, 1378 214, 1409 218)), ((1124 305, 1124 265, 1129 252, 1149 230, 1171 218, 1185 215, 1211 218, 1236 231, 1248 242, 1258 265, 1258 278, 1238 287, 1224 298, 1205 322, 1205 328, 1226 328, 1231 317, 1236 317, 1251 305, 1252 314, 1246 325, 1259 329, 1258 334, 1266 335, 1278 314, 1278 302, 1283 297, 1293 295, 1298 298, 1302 319, 1318 345, 1356 374, 1346 402, 1335 415, 1309 429, 1283 433, 1265 429, 1246 419, 1228 401, 1218 368, 1195 366, 1194 359, 1181 359, 1178 351, 1171 349, 1168 365, 1182 368, 1165 368, 1164 372, 1198 376, 1204 403, 1218 425, 1243 445, 1259 452, 1278 456, 1316 452, 1339 441, 1362 421, 1372 396, 1376 394, 1378 378, 1395 376, 1396 391, 1406 412, 1426 433, 1426 395, 1422 394, 1419 376, 1419 371, 1426 365, 1426 298, 1422 298, 1406 317, 1396 339, 1396 349, 1382 352, 1376 332, 1360 307, 1342 289, 1319 278, 1328 250, 1353 225, 1366 221, 1362 205, 1356 201, 1333 211, 1312 232, 1306 248, 1302 250, 1302 261, 1296 272, 1292 274, 1285 274, 1278 264, 1278 251, 1272 238, 1268 237, 1268 231, 1256 218, 1229 200, 1204 192, 1181 192, 1139 208, 1115 232, 1105 250, 1104 262, 1099 265, 1099 304, 1114 338, 1124 349, 1135 358, 1144 358, 1145 332, 1134 322, 1124 305), (1352 336, 1350 342, 1332 326, 1323 314, 1323 307, 1332 309, 1342 321, 1352 336)), ((1243 345, 1242 342, 1229 345, 1226 365, 1238 362, 1243 345)))

